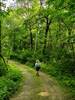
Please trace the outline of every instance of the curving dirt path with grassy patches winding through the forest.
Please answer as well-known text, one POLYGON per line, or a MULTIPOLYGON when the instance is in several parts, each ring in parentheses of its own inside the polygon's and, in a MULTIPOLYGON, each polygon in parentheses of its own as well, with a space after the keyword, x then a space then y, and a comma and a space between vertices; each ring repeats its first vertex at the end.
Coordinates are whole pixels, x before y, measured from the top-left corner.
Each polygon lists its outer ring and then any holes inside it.
POLYGON ((34 69, 18 62, 9 61, 9 65, 18 67, 23 74, 21 88, 10 100, 66 100, 63 89, 53 77, 43 72, 38 77, 34 69))

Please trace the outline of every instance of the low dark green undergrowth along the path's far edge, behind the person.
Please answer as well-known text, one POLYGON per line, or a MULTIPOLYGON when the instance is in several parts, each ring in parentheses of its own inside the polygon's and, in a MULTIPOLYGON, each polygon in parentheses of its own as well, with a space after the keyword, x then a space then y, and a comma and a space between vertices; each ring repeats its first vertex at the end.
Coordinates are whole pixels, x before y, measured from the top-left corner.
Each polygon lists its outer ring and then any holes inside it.
POLYGON ((30 63, 33 66, 33 63, 35 63, 36 59, 39 59, 40 61, 43 61, 44 57, 46 59, 46 56, 40 53, 40 50, 34 53, 30 49, 23 49, 18 50, 17 52, 13 52, 10 55, 10 59, 18 60, 21 63, 30 63))

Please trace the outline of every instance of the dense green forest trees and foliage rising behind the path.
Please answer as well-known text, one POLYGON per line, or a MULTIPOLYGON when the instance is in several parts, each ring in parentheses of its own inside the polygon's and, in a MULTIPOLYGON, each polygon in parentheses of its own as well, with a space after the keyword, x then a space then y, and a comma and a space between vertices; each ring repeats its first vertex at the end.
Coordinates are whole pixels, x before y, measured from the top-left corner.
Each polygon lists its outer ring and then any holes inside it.
POLYGON ((18 0, 16 8, 2 11, 2 55, 24 63, 63 63, 73 72, 74 5, 74 0, 18 0))

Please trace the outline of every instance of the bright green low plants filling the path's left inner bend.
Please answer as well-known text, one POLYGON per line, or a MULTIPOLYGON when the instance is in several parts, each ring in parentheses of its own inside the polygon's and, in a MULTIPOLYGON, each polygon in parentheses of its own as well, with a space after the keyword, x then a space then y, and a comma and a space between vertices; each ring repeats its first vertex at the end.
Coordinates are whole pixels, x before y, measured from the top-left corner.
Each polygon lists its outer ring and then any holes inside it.
POLYGON ((0 76, 0 100, 9 100, 20 86, 22 80, 21 71, 16 66, 8 65, 8 71, 0 76))

